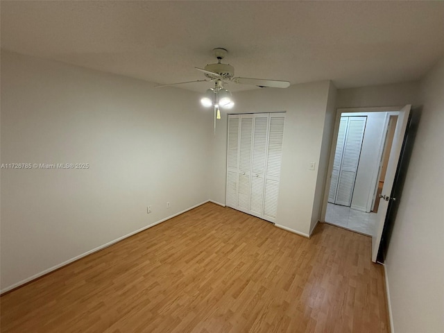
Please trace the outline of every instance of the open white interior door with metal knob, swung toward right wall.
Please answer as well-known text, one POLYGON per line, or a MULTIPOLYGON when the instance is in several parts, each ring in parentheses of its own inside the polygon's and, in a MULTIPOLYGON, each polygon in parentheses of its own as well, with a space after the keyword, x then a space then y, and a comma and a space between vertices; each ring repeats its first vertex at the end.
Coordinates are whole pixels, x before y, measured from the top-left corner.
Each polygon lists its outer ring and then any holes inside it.
POLYGON ((382 196, 379 201, 379 207, 377 210, 377 225, 375 225, 375 233, 372 237, 372 261, 376 262, 377 251, 379 249, 379 243, 381 242, 382 230, 384 230, 384 222, 386 219, 388 201, 393 200, 390 198, 393 182, 395 180, 396 168, 400 160, 400 153, 402 148, 402 142, 404 140, 405 130, 407 128, 407 122, 409 121, 411 105, 405 105, 400 110, 398 115, 398 121, 396 123, 395 135, 393 136, 393 143, 390 151, 390 157, 388 158, 388 164, 386 169, 386 178, 384 180, 384 187, 382 187, 382 196))

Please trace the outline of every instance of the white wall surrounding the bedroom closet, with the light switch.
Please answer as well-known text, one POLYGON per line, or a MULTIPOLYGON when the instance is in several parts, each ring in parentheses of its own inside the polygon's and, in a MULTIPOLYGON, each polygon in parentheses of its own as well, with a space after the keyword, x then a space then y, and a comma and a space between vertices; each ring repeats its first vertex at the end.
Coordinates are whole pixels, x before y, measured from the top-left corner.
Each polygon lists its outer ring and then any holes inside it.
MULTIPOLYGON (((329 91, 333 91, 330 85, 330 81, 321 81, 293 85, 288 89, 239 92, 234 94, 236 105, 230 111, 287 112, 276 224, 307 236, 311 225, 318 219, 313 214, 313 207, 318 168, 325 168, 324 161, 321 161, 321 146, 327 100, 329 91), (309 162, 316 162, 315 171, 309 170, 309 162)), ((210 198, 225 204, 226 112, 221 117, 214 137, 210 198)))

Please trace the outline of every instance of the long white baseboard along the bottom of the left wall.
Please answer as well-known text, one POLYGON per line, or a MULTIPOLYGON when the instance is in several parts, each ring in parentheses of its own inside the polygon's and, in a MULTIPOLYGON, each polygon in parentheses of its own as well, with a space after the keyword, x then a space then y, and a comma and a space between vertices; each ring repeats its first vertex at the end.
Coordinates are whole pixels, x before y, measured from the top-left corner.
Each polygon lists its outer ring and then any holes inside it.
POLYGON ((108 246, 112 246, 113 244, 116 244, 118 241, 121 241, 121 240, 126 239, 126 238, 128 238, 128 237, 131 237, 131 236, 133 236, 133 234, 137 234, 137 233, 139 233, 139 232, 142 232, 142 231, 144 231, 144 230, 146 230, 146 229, 149 229, 149 228, 151 228, 151 227, 153 227, 153 226, 155 226, 155 225, 157 225, 157 224, 159 224, 159 223, 162 223, 162 222, 164 222, 164 221, 167 221, 167 220, 169 220, 169 219, 172 219, 173 217, 178 216, 178 215, 180 215, 180 214, 183 214, 183 213, 185 213, 185 212, 188 212, 189 210, 193 210, 194 208, 199 207, 200 205, 203 205, 204 203, 208 203, 208 202, 210 202, 210 200, 206 200, 206 201, 204 201, 203 203, 198 203, 197 205, 194 205, 194 206, 192 206, 192 207, 189 207, 189 208, 187 208, 186 210, 182 210, 182 212, 178 212, 178 213, 173 214, 173 215, 170 215, 170 216, 168 216, 168 217, 166 217, 166 218, 164 218, 164 219, 162 219, 162 220, 160 220, 160 221, 157 221, 157 222, 151 223, 150 225, 146 225, 146 226, 143 227, 143 228, 137 229, 137 230, 135 230, 135 231, 133 231, 133 232, 130 232, 129 234, 126 234, 126 235, 122 236, 122 237, 119 237, 119 238, 117 238, 117 239, 114 239, 114 240, 112 240, 112 241, 109 241, 108 243, 103 244, 103 245, 101 245, 101 246, 98 246, 98 247, 96 247, 96 248, 93 248, 92 250, 89 250, 89 251, 87 251, 87 252, 85 252, 85 253, 82 253, 81 255, 76 255, 76 257, 73 257, 73 258, 71 258, 71 259, 68 259, 68 260, 66 260, 65 262, 62 262, 62 263, 60 263, 60 264, 57 264, 56 266, 52 266, 52 267, 50 267, 50 268, 47 268, 47 269, 45 269, 44 271, 41 271, 40 273, 37 273, 37 274, 34 274, 33 276, 30 276, 29 278, 26 278, 26 279, 24 279, 24 280, 22 280, 22 281, 19 281, 19 282, 15 283, 15 284, 11 284, 10 286, 8 286, 8 287, 6 287, 6 288, 1 289, 1 290, 0 290, 0 295, 1 295, 2 293, 6 293, 7 291, 10 291, 10 290, 15 289, 15 288, 17 288, 17 287, 20 287, 20 286, 22 286, 22 284, 26 284, 26 283, 28 283, 28 282, 31 282, 32 280, 35 280, 35 279, 37 279, 37 278, 40 278, 40 277, 43 276, 43 275, 46 275, 46 274, 48 274, 48 273, 51 273, 52 271, 56 271, 56 269, 58 269, 58 268, 60 268, 60 267, 63 267, 63 266, 66 266, 67 264, 71 264, 71 262, 75 262, 76 260, 81 259, 81 258, 83 258, 83 257, 86 257, 87 255, 91 255, 92 253, 95 253, 95 252, 98 252, 98 251, 100 251, 100 250, 103 250, 104 248, 108 248, 108 246))

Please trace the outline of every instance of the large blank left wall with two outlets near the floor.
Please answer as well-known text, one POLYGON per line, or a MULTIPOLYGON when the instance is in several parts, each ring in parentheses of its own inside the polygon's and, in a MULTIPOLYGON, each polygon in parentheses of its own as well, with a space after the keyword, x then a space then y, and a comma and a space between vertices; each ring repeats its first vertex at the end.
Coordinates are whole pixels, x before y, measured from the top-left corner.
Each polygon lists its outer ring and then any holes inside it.
POLYGON ((196 93, 2 51, 1 163, 90 167, 1 169, 1 289, 206 201, 211 137, 196 93))

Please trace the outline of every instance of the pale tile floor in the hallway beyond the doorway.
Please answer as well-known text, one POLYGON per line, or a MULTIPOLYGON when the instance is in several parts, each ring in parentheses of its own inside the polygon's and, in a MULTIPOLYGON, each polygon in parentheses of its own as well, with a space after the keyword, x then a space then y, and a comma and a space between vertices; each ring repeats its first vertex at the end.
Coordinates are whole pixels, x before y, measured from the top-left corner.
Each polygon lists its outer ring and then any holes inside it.
POLYGON ((375 213, 360 212, 352 210, 350 207, 327 203, 325 222, 372 236, 376 217, 375 213))

